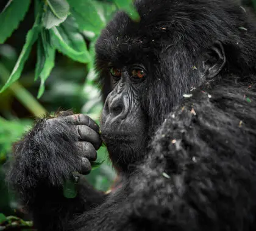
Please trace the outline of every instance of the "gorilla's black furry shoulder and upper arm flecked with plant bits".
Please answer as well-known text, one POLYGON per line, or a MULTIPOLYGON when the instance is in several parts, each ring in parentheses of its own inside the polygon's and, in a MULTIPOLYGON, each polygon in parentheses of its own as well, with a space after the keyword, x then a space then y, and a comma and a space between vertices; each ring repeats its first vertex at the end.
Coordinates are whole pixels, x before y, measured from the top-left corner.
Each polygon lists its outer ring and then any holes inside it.
POLYGON ((158 129, 127 185, 72 230, 255 227, 256 81, 235 82, 192 91, 158 129))

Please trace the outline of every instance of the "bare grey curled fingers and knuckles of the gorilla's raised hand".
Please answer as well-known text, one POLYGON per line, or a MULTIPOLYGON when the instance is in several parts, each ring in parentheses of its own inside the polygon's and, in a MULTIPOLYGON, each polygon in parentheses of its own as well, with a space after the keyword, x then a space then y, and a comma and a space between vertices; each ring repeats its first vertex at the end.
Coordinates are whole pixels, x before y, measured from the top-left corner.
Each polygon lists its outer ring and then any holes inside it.
MULTIPOLYGON (((73 150, 69 150, 69 152, 71 155, 79 157, 79 162, 77 163, 79 168, 77 168, 77 171, 81 174, 90 173, 90 161, 96 160, 96 150, 101 147, 99 126, 90 117, 83 114, 75 114, 46 120, 46 129, 54 131, 55 126, 59 123, 68 125, 73 135, 76 136, 70 137, 66 142, 71 142, 76 147, 77 153, 73 153, 73 150)), ((64 134, 60 134, 60 137, 65 136, 66 132, 63 131, 64 134)), ((55 135, 54 133, 52 134, 52 136, 55 135)))

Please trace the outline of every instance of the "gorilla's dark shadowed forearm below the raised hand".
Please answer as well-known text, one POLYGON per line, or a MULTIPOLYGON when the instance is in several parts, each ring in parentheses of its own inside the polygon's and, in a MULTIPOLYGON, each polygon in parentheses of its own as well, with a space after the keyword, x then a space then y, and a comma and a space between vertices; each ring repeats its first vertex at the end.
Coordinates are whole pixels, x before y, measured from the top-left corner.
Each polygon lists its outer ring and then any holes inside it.
POLYGON ((74 216, 101 205, 105 198, 103 192, 95 190, 86 181, 77 184, 77 196, 73 199, 65 198, 62 188, 42 187, 38 188, 37 199, 29 209, 38 231, 66 230, 74 216))

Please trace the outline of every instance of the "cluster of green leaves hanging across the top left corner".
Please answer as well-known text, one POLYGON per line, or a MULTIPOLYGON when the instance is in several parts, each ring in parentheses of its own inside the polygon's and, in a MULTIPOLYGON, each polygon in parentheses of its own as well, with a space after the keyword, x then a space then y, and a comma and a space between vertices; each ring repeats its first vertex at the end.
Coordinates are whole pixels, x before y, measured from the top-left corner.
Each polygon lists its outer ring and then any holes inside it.
MULTIPOLYGON (((38 77, 41 79, 38 98, 43 95, 44 83, 54 67, 56 49, 75 61, 91 63, 92 57, 87 50, 83 33, 86 35, 87 32, 92 32, 95 40, 106 25, 108 17, 104 13, 115 10, 113 3, 104 4, 96 0, 34 1, 37 18, 34 26, 27 33, 26 43, 12 74, 0 90, 0 93, 20 78, 35 41, 37 41, 35 80, 38 77)), ((16 29, 19 22, 26 15, 29 4, 29 0, 10 0, 6 5, 0 14, 0 43, 4 43, 6 38, 16 29)), ((132 19, 140 19, 140 16, 132 6, 132 0, 115 0, 115 4, 119 9, 129 13, 132 19)))

